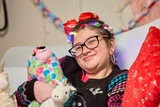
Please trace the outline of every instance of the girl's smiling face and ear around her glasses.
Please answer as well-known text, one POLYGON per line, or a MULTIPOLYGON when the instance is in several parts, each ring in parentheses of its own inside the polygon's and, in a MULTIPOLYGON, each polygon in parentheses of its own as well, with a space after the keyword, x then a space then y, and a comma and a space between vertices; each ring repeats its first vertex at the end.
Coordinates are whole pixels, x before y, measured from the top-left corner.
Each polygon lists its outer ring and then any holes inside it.
MULTIPOLYGON (((81 29, 74 36, 74 45, 83 44, 88 38, 99 35, 94 30, 81 29)), ((86 73, 94 74, 105 69, 110 64, 110 55, 114 52, 114 40, 111 40, 112 46, 109 47, 104 38, 99 35, 99 45, 90 50, 83 46, 83 53, 76 57, 78 64, 86 73)))

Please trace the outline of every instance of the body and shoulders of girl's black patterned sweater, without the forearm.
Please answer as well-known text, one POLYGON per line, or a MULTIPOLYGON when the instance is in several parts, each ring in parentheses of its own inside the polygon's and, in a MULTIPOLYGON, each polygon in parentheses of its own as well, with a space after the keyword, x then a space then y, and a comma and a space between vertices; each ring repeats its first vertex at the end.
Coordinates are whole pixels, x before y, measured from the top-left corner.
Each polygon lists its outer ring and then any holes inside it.
POLYGON ((120 107, 125 90, 128 70, 120 70, 117 65, 103 79, 82 81, 82 69, 69 56, 62 61, 64 74, 69 78, 77 92, 73 95, 72 107, 120 107), (68 59, 67 59, 68 58, 68 59), (68 66, 72 66, 71 68, 68 66), (76 72, 75 72, 76 71, 76 72))

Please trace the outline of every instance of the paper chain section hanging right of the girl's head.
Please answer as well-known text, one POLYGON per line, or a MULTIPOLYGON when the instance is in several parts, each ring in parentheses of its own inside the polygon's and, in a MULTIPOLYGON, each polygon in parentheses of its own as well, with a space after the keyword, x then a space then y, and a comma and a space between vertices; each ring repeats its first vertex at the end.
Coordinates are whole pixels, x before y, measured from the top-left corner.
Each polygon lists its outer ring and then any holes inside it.
POLYGON ((137 27, 139 21, 150 13, 151 7, 157 1, 158 0, 147 0, 146 5, 141 8, 140 12, 137 13, 135 17, 128 22, 127 25, 123 25, 119 31, 115 32, 114 35, 118 35, 120 33, 132 30, 133 28, 137 27))

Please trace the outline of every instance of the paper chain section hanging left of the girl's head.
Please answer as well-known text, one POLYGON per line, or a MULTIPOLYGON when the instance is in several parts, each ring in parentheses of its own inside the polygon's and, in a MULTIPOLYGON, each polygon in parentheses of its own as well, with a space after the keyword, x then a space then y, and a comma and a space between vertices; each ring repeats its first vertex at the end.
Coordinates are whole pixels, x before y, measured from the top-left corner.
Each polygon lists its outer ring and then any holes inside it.
POLYGON ((41 0, 32 0, 32 1, 34 5, 39 7, 44 17, 49 18, 49 20, 55 25, 57 29, 60 29, 61 31, 64 32, 63 23, 59 17, 56 17, 56 15, 50 12, 41 0))

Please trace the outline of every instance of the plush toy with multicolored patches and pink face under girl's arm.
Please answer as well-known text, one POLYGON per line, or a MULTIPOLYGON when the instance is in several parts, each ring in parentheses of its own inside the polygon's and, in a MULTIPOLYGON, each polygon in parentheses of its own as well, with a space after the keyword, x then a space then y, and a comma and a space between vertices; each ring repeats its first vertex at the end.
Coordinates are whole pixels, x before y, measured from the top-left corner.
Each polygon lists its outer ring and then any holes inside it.
MULTIPOLYGON (((36 47, 28 60, 28 79, 37 79, 57 87, 57 81, 64 83, 67 78, 63 75, 63 71, 59 64, 58 58, 45 46, 36 47)), ((61 85, 60 85, 61 87, 61 85)), ((61 87, 62 88, 62 87, 61 87)), ((63 87, 64 88, 64 87, 63 87)), ((66 88, 65 88, 66 89, 66 88)), ((65 90, 64 89, 64 90, 65 90)), ((55 89, 53 90, 53 93, 55 89)), ((51 100, 51 99, 50 99, 51 100)), ((65 102, 61 102, 63 105, 65 102)), ((48 104, 44 103, 43 107, 48 104)), ((39 107, 36 101, 32 102, 29 107, 39 107)), ((47 107, 47 106, 46 106, 47 107)))

